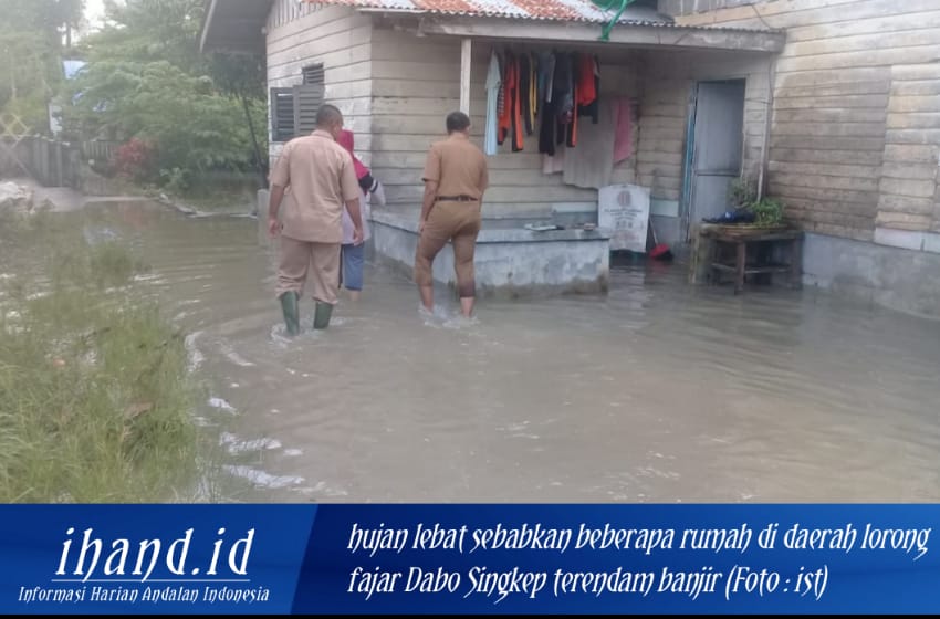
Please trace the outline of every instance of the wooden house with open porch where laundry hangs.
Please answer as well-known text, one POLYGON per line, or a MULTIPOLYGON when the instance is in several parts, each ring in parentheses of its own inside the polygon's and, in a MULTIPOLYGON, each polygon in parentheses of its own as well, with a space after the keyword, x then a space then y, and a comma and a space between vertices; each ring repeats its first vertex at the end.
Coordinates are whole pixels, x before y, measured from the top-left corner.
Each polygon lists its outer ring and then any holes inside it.
MULTIPOLYGON (((629 155, 605 181, 648 188, 660 240, 682 242, 696 222, 724 212, 742 170, 764 178, 773 72, 786 35, 760 23, 683 24, 656 0, 630 3, 614 19, 591 0, 211 0, 202 49, 267 53, 272 157, 311 129, 321 101, 343 109, 362 159, 386 186, 376 249, 403 263, 414 255, 425 154, 445 115, 467 111, 482 143, 493 53, 594 56, 600 101, 631 111, 618 134, 628 134, 629 155)), ((589 123, 582 119, 585 136, 589 123)), ((478 277, 493 287, 604 288, 609 242, 602 232, 522 228, 596 221, 598 211, 597 187, 573 182, 567 168, 552 174, 537 128, 523 137, 521 149, 508 139, 490 159, 478 277)), ((588 153, 593 145, 578 146, 588 153)), ((436 266, 447 279, 447 260, 436 266)))

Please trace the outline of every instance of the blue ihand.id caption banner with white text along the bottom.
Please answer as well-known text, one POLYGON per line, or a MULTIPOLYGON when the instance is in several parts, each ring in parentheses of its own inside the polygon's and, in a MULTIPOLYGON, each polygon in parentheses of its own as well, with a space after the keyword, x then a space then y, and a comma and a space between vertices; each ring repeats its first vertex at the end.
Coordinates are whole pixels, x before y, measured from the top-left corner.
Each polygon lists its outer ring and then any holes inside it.
POLYGON ((933 613, 936 505, 7 505, 18 613, 933 613))

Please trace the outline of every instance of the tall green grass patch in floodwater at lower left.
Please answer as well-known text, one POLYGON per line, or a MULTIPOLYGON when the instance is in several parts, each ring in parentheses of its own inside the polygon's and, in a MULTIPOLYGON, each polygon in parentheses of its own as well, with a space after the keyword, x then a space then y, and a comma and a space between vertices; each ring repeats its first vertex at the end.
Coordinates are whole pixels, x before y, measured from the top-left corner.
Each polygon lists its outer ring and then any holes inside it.
POLYGON ((197 389, 184 334, 126 287, 145 266, 56 216, 0 221, 0 263, 21 266, 0 282, 0 502, 181 499, 197 389))

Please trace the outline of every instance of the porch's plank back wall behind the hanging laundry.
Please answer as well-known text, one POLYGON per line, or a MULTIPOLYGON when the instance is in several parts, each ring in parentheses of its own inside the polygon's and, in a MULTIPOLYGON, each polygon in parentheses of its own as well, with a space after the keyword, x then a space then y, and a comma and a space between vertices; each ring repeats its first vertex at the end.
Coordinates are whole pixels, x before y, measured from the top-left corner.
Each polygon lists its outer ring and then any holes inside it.
MULTIPOLYGON (((374 170, 385 182, 393 204, 417 207, 428 147, 445 136, 445 117, 460 105, 460 41, 377 29, 372 45, 374 98, 368 143, 374 170)), ((490 43, 473 43, 470 115, 479 146, 485 126, 484 83, 492 49, 490 43)), ((628 54, 602 57, 602 95, 638 92, 637 65, 628 54)), ((537 137, 536 128, 535 134, 525 136, 522 153, 512 153, 506 143, 490 158, 487 217, 545 217, 553 209, 596 211, 596 190, 570 187, 562 182, 562 175, 543 174, 537 137)), ((616 168, 614 182, 633 182, 635 178, 636 158, 631 158, 616 168)))

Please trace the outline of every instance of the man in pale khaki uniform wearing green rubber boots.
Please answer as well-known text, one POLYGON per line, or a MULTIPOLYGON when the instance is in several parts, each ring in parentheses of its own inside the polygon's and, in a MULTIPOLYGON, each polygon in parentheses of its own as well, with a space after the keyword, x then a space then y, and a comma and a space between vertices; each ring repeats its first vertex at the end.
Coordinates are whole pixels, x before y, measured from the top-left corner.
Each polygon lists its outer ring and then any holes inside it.
POLYGON ((300 333, 297 304, 307 280, 316 302, 313 328, 330 325, 340 287, 344 206, 353 220, 353 242, 363 242, 361 191, 353 157, 336 144, 343 114, 323 105, 316 127, 313 134, 284 145, 271 175, 268 230, 272 238, 281 233, 278 297, 289 335, 300 333), (290 199, 279 221, 278 210, 288 191, 290 199))

